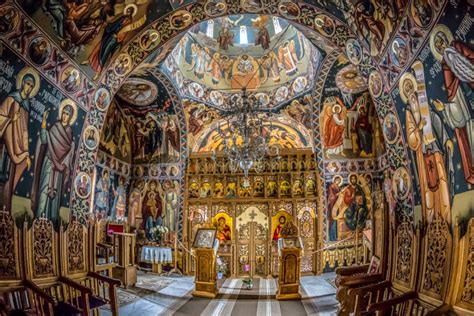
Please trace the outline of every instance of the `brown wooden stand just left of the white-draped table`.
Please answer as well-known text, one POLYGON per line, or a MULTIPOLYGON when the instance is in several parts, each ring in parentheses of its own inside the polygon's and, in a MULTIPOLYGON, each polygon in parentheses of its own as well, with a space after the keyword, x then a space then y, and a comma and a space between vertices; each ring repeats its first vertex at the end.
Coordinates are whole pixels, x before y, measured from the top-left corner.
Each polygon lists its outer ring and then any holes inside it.
POLYGON ((137 266, 135 265, 135 234, 114 233, 115 258, 117 266, 112 276, 119 279, 124 287, 137 283, 137 266))

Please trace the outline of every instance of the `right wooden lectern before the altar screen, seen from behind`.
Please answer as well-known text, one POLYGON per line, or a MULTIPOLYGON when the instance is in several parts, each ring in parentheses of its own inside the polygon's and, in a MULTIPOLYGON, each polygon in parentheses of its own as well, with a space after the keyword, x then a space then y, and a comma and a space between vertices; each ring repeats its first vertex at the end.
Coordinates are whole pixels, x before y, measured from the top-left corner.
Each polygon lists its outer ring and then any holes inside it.
POLYGON ((280 271, 278 275, 277 300, 300 299, 300 264, 303 254, 299 237, 280 238, 278 240, 278 255, 280 271))

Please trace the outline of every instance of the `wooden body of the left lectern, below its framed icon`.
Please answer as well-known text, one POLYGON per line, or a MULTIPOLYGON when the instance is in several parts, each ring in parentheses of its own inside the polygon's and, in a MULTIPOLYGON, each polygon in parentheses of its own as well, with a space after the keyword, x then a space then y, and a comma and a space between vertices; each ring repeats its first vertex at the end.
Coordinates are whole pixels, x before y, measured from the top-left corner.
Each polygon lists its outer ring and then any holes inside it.
POLYGON ((212 248, 194 248, 195 289, 193 296, 215 298, 217 295, 216 251, 212 248))

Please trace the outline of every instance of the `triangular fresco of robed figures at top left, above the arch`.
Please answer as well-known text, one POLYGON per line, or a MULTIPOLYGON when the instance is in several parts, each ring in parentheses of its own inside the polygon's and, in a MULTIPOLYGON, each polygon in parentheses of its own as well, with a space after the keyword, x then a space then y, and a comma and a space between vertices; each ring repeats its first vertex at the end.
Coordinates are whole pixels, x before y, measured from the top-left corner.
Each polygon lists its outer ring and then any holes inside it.
POLYGON ((168 1, 150 0, 16 2, 94 79, 139 31, 172 10, 168 1))

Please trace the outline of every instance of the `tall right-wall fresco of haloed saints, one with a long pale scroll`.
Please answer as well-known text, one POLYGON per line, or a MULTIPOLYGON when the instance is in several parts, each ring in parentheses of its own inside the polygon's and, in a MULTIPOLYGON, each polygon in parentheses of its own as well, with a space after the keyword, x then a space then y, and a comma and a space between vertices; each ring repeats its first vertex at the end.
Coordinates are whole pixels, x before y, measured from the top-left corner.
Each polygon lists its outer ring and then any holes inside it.
POLYGON ((415 204, 428 222, 441 217, 453 223, 458 217, 466 223, 474 215, 469 202, 474 184, 474 53, 467 40, 473 33, 472 6, 447 4, 392 91, 401 124, 387 120, 385 137, 396 129, 407 139, 412 161, 407 167, 414 175, 409 178, 406 170, 397 169, 391 175, 393 195, 400 200, 407 186, 416 188, 415 204))

